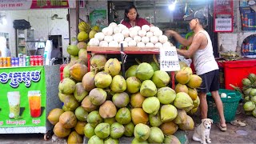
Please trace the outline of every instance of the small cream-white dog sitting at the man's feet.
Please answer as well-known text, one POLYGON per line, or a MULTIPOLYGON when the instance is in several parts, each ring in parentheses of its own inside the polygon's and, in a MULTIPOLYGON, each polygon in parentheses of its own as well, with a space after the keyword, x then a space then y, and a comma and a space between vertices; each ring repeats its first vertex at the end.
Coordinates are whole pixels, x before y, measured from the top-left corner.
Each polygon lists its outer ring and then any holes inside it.
POLYGON ((202 123, 194 130, 193 140, 200 141, 203 144, 210 142, 210 127, 214 121, 210 118, 202 119, 202 123))

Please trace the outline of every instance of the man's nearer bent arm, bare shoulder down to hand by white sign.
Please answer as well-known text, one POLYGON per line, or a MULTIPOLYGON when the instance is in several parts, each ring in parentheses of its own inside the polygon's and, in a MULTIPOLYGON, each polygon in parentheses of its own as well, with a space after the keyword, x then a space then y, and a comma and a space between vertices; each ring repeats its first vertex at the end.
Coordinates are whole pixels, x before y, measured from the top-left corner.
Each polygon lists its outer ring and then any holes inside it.
POLYGON ((199 49, 199 47, 202 44, 202 39, 204 39, 205 35, 202 33, 197 34, 196 37, 194 37, 194 40, 192 44, 190 45, 189 50, 179 50, 177 49, 178 54, 183 55, 185 58, 191 58, 196 50, 199 49))

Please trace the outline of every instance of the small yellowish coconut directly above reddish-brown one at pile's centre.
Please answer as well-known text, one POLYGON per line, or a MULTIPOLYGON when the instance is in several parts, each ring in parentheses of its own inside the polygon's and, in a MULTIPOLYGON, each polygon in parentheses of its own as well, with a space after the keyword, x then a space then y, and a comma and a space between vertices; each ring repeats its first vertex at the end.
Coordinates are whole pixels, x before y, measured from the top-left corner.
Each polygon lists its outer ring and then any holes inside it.
POLYGON ((129 93, 137 93, 142 86, 142 82, 136 77, 126 79, 127 91, 129 93))

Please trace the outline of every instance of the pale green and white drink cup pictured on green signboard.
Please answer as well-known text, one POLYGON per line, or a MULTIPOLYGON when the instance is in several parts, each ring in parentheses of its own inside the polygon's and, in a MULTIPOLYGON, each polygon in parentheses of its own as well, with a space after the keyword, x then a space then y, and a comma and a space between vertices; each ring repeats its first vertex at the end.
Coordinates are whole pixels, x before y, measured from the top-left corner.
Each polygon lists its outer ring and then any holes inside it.
POLYGON ((18 118, 20 112, 21 95, 19 91, 12 91, 7 93, 10 113, 9 118, 18 118))

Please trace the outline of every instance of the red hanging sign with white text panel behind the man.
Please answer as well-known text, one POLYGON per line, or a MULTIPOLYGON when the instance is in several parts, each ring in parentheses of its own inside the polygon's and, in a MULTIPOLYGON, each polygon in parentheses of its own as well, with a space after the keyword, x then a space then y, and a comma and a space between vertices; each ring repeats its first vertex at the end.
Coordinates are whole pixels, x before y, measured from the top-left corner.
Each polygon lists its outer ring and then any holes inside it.
POLYGON ((233 1, 214 1, 214 32, 233 31, 233 1))

